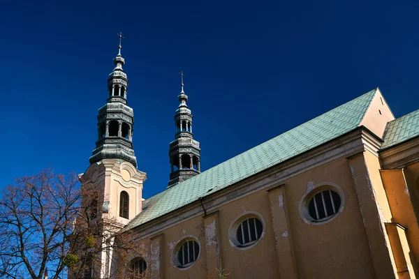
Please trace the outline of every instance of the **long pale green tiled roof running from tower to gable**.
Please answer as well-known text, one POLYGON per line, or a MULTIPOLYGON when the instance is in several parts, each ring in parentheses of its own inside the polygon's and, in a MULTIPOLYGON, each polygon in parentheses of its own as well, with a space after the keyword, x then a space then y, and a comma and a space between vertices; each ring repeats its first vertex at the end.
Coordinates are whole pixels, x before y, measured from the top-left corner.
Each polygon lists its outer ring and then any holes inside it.
MULTIPOLYGON (((376 89, 146 199, 136 227, 357 128, 376 89)), ((281 119, 278 119, 280 125, 281 119)))

